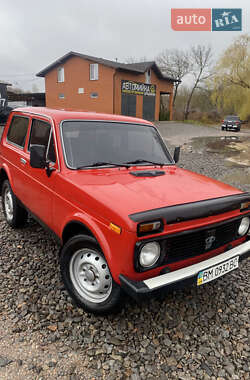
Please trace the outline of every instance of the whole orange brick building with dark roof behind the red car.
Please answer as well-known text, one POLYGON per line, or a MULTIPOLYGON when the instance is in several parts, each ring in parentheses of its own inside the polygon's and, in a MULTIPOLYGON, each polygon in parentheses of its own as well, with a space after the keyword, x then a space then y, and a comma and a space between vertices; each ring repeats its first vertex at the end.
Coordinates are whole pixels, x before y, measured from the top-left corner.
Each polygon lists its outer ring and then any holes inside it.
POLYGON ((69 52, 37 76, 45 78, 46 106, 159 120, 161 96, 172 119, 175 80, 156 63, 125 64, 69 52))

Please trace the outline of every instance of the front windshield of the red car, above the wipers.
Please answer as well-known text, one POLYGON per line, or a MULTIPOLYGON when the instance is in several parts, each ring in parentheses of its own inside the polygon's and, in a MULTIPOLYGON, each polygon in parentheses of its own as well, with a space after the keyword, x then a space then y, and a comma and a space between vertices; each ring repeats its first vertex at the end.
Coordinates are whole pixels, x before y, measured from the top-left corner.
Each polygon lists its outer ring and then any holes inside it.
POLYGON ((173 164, 158 131, 148 125, 70 120, 62 123, 61 132, 71 169, 173 164))

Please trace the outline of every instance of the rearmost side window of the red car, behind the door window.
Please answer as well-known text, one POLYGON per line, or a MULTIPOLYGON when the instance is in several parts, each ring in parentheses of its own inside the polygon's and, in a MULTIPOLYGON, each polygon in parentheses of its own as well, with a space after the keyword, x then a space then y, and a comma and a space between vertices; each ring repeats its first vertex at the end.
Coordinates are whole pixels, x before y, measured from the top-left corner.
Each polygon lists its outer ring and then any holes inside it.
POLYGON ((7 140, 13 144, 24 147, 29 126, 29 119, 23 116, 14 116, 7 134, 7 140))

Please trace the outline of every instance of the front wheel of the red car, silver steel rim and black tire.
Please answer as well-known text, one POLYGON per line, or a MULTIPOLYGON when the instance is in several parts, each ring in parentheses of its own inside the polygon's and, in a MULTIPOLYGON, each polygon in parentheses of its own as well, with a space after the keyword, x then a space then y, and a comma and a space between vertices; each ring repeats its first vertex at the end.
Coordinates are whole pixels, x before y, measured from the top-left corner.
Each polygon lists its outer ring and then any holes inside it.
POLYGON ((60 255, 62 280, 76 305, 99 315, 118 312, 122 290, 113 280, 96 240, 76 235, 63 246, 60 255))

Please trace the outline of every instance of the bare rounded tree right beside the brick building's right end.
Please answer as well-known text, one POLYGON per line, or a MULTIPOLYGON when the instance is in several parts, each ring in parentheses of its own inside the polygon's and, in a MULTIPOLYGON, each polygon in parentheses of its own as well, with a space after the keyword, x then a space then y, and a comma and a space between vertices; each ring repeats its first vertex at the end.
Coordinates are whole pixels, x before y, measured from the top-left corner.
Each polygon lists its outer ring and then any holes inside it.
POLYGON ((158 55, 156 62, 163 74, 177 79, 175 82, 175 91, 173 105, 175 104, 178 87, 182 78, 190 71, 189 54, 186 51, 178 49, 166 49, 158 55))

